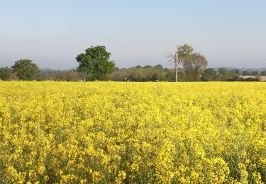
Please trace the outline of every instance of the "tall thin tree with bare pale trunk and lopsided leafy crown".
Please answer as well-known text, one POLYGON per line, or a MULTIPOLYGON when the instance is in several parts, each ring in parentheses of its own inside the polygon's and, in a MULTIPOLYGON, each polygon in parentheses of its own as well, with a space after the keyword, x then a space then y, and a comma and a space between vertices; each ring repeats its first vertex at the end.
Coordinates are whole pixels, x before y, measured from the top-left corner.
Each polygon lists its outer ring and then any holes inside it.
POLYGON ((175 81, 177 82, 178 77, 178 65, 184 63, 185 59, 192 54, 193 48, 189 45, 180 45, 177 47, 177 50, 174 54, 169 54, 167 57, 170 58, 169 62, 174 63, 174 71, 175 71, 175 81))

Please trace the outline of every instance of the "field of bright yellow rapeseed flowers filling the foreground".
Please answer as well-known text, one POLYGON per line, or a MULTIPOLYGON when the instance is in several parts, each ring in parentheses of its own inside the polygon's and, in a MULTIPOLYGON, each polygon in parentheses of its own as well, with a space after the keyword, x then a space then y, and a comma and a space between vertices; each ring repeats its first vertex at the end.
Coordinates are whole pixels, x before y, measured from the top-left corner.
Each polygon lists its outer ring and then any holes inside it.
POLYGON ((0 81, 0 183, 262 183, 266 83, 0 81))

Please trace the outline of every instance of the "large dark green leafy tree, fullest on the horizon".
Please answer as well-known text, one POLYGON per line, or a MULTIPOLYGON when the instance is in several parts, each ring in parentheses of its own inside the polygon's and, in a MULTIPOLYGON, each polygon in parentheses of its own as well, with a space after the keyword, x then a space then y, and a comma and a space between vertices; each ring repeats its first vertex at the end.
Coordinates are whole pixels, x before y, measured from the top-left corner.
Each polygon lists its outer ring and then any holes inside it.
POLYGON ((77 70, 87 72, 88 80, 104 80, 115 69, 114 62, 109 61, 110 56, 105 46, 91 46, 76 57, 79 63, 77 70))

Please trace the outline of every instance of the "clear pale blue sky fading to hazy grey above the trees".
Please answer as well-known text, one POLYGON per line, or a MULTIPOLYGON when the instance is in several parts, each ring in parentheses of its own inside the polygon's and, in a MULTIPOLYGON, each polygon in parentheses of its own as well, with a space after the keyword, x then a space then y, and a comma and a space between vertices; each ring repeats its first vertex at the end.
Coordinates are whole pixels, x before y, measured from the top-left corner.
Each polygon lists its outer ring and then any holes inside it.
POLYGON ((265 0, 3 0, 0 67, 71 69, 90 45, 118 67, 171 67, 165 56, 184 43, 209 67, 266 67, 265 10, 265 0))

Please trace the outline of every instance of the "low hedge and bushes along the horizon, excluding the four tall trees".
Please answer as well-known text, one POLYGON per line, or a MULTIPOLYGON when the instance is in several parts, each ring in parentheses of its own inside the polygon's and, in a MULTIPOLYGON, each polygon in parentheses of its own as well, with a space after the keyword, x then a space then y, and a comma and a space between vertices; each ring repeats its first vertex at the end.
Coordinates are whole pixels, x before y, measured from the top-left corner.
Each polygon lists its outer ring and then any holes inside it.
MULTIPOLYGON (((243 71, 245 73, 245 71, 243 71)), ((257 72, 258 73, 258 72, 257 72)), ((243 75, 238 69, 220 68, 218 71, 215 69, 206 69, 200 77, 200 81, 260 81, 260 75, 266 76, 266 71, 261 71, 259 75, 253 78, 243 79, 243 75)), ((0 68, 0 79, 3 81, 19 80, 16 73, 12 69, 5 67, 0 68)), ((40 69, 40 72, 35 74, 31 80, 36 81, 82 81, 86 80, 86 72, 78 72, 76 69, 70 70, 52 70, 40 69)), ((157 64, 156 66, 140 65, 131 68, 118 69, 116 68, 111 74, 107 75, 104 79, 106 81, 175 81, 174 69, 168 69, 157 64)), ((178 81, 192 81, 189 74, 183 69, 179 68, 178 81)))

